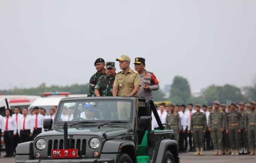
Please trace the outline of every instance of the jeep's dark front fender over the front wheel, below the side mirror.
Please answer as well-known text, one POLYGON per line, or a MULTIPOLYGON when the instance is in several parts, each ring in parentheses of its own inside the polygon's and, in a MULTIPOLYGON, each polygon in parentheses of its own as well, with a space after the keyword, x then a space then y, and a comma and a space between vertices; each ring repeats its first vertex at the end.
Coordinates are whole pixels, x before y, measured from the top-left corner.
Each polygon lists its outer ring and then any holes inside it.
POLYGON ((107 153, 108 155, 117 154, 115 158, 118 159, 121 152, 127 153, 132 161, 137 163, 135 145, 132 141, 127 140, 115 139, 106 141, 103 145, 101 156, 105 157, 107 153))

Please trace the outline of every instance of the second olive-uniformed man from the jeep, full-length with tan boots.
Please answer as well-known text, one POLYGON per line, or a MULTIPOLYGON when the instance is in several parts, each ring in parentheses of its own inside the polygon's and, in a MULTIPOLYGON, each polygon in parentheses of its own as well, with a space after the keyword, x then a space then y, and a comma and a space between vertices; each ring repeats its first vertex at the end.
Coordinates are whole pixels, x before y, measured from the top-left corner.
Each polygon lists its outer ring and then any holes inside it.
POLYGON ((196 112, 192 114, 190 129, 191 134, 194 135, 195 140, 195 156, 204 155, 204 134, 207 130, 207 120, 205 113, 200 111, 201 105, 195 104, 196 112))

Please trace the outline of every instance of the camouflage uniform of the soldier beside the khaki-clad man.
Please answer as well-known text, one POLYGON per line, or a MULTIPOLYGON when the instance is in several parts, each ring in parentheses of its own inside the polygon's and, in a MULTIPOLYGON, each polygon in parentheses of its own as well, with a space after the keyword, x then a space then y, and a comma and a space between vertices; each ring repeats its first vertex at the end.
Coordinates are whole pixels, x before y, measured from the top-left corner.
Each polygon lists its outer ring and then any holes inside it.
POLYGON ((113 96, 112 91, 114 81, 115 74, 114 76, 101 75, 94 89, 99 90, 100 96, 113 96))

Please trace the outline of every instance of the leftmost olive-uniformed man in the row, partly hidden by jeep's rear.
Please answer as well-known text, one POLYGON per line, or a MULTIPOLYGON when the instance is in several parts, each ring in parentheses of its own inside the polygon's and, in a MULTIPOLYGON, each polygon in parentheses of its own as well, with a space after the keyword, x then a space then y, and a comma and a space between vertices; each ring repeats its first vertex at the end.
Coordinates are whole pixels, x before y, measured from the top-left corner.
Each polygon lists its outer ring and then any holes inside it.
POLYGON ((180 138, 180 131, 182 130, 181 126, 181 119, 179 113, 174 112, 175 105, 173 103, 170 104, 170 113, 167 114, 166 117, 166 123, 168 123, 171 127, 171 129, 175 133, 175 140, 177 142, 177 145, 179 147, 179 138, 180 138))

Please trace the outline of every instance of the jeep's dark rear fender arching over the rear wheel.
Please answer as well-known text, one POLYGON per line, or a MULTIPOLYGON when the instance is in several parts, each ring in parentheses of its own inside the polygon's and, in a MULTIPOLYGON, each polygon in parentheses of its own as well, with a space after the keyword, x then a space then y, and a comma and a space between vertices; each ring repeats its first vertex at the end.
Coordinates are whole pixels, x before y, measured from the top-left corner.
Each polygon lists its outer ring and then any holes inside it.
POLYGON ((178 145, 175 140, 170 140, 170 139, 164 139, 160 142, 158 152, 157 152, 157 157, 156 157, 156 163, 162 163, 164 154, 167 150, 170 150, 171 153, 174 156, 175 163, 179 162, 179 152, 178 152, 178 145))

